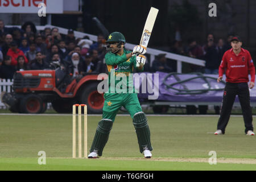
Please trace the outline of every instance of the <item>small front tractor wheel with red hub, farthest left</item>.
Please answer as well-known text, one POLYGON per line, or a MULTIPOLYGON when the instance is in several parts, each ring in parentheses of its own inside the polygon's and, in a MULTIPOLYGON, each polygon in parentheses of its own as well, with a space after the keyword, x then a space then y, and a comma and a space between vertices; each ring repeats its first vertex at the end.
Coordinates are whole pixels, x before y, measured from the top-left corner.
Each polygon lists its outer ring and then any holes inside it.
POLYGON ((40 96, 29 94, 20 100, 20 112, 28 114, 39 114, 43 108, 43 101, 40 96))

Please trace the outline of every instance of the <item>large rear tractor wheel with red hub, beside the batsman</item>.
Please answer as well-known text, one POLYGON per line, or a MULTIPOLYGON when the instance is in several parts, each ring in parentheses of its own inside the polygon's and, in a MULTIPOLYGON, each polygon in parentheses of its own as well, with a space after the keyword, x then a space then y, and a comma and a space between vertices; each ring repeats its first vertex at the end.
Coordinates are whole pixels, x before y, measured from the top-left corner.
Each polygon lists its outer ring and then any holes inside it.
POLYGON ((104 106, 104 94, 97 91, 98 83, 86 85, 81 92, 81 104, 87 105, 88 113, 101 114, 104 106))

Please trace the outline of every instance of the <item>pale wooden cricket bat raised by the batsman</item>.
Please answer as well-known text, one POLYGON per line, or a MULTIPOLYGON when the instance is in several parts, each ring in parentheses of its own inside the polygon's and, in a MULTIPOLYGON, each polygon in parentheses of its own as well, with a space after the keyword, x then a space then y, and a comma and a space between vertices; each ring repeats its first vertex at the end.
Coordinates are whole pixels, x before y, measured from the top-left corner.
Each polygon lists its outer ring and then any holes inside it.
MULTIPOLYGON (((147 44, 150 39, 150 35, 154 27, 155 19, 157 15, 158 15, 158 9, 151 7, 150 12, 147 15, 147 20, 142 32, 141 42, 139 43, 140 46, 147 48, 147 44)), ((139 67, 138 63, 137 63, 137 67, 139 67)))

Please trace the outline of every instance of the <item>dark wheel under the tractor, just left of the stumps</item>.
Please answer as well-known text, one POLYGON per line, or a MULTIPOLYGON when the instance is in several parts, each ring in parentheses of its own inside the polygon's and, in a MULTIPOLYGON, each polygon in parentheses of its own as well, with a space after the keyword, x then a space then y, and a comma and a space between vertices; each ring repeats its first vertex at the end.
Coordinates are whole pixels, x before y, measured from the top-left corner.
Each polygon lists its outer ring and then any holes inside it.
POLYGON ((52 107, 57 113, 72 113, 72 105, 75 104, 71 100, 59 99, 52 101, 52 107))

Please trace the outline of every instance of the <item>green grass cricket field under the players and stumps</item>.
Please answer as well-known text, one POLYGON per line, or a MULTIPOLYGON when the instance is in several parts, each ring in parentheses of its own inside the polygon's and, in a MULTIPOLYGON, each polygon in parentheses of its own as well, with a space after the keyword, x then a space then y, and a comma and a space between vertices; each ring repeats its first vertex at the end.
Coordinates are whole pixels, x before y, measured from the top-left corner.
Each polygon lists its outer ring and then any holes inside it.
MULTIPOLYGON (((88 150, 101 116, 88 117, 88 150)), ((256 138, 242 117, 213 135, 218 116, 149 116, 153 158, 139 153, 128 116, 118 116, 100 159, 72 159, 72 115, 0 115, 0 170, 256 170, 256 138), (38 152, 46 152, 46 165, 38 152), (209 151, 217 164, 208 163, 209 151)))

